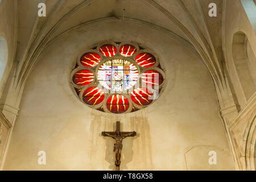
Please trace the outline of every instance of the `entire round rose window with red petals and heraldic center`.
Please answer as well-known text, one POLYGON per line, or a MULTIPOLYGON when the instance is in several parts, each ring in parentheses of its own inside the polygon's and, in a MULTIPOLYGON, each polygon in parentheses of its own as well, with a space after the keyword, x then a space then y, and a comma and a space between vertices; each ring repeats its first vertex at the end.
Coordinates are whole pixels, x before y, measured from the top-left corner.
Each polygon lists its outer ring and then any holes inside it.
POLYGON ((89 107, 113 114, 151 105, 164 86, 164 72, 158 56, 147 50, 111 42, 84 53, 72 71, 75 93, 89 107))

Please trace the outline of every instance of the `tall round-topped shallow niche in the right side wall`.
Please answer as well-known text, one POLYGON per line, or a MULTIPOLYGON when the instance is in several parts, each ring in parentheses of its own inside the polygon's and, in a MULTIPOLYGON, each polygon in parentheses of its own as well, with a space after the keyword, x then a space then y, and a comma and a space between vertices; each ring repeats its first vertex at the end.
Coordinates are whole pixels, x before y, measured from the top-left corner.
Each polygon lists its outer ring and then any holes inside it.
POLYGON ((256 57, 243 32, 234 34, 232 53, 242 92, 248 101, 256 91, 256 57))

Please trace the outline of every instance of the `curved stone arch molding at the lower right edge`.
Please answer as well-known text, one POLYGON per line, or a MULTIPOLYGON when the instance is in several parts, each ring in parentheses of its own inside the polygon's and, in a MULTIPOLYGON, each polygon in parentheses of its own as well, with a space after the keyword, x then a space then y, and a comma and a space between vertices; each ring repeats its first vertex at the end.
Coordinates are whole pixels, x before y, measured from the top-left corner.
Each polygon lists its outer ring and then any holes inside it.
POLYGON ((254 150, 256 142, 256 109, 251 114, 244 133, 243 156, 245 156, 246 170, 255 171, 254 150))

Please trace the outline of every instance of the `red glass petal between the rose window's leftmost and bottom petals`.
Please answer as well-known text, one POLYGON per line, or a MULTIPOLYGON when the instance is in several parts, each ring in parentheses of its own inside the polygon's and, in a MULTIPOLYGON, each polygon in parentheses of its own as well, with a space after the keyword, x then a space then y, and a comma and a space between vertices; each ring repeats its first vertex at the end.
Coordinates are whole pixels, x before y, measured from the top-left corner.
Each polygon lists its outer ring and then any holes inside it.
POLYGON ((86 89, 84 94, 82 95, 82 100, 86 104, 92 106, 101 104, 101 102, 104 101, 104 98, 104 92, 96 86, 86 89))

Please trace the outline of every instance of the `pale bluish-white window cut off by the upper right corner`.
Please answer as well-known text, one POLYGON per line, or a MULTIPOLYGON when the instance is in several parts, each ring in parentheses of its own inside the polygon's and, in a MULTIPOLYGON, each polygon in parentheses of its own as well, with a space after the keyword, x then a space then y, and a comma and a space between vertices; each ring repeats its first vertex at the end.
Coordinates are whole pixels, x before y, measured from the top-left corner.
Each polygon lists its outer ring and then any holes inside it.
POLYGON ((255 0, 241 0, 243 9, 250 20, 251 26, 253 26, 256 33, 256 1, 255 0))

